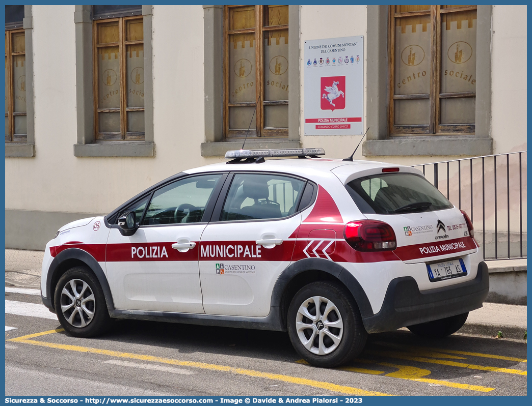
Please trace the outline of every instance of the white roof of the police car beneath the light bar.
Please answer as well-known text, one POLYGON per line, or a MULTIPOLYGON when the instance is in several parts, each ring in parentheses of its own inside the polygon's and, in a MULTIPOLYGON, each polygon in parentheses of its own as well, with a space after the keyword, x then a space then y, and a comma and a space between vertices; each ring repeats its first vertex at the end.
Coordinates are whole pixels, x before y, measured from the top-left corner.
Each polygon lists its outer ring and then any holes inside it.
POLYGON ((347 177, 352 177, 353 174, 375 172, 375 170, 384 167, 399 167, 402 168, 401 172, 419 172, 410 166, 398 164, 388 164, 372 160, 353 160, 353 162, 349 162, 342 159, 329 158, 265 159, 263 163, 259 164, 238 163, 228 165, 227 162, 222 162, 193 168, 184 172, 189 174, 221 171, 282 172, 306 177, 315 181, 323 179, 323 177, 336 176, 340 181, 344 182, 347 177))

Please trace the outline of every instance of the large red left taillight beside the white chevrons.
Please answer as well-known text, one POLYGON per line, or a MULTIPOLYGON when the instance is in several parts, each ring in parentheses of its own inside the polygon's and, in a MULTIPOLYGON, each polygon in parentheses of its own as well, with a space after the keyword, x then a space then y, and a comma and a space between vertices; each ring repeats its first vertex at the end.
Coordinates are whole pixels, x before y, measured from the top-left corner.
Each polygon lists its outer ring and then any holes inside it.
POLYGON ((360 220, 347 223, 344 238, 357 251, 391 251, 397 247, 392 227, 377 220, 360 220))

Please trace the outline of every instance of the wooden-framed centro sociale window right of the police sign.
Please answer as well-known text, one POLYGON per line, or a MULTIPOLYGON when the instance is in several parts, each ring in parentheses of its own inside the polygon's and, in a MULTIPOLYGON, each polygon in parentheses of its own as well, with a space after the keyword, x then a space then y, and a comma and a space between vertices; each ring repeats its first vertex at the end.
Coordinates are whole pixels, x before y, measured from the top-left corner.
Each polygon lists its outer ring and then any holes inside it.
POLYGON ((476 9, 390 6, 390 134, 475 133, 476 9))

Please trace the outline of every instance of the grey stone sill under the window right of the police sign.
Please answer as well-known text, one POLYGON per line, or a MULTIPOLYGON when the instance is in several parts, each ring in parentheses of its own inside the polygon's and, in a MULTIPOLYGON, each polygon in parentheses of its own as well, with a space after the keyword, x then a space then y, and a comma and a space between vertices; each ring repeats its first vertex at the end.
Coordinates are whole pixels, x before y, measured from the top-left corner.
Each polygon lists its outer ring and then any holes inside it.
POLYGON ((401 139, 367 140, 362 144, 363 156, 414 155, 491 155, 493 140, 476 137, 412 136, 401 139))

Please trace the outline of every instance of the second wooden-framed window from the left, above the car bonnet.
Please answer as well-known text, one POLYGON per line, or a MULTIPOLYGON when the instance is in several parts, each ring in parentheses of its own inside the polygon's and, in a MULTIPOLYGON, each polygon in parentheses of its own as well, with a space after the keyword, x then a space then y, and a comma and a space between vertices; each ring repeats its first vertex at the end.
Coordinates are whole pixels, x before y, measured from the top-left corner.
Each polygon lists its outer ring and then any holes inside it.
POLYGON ((127 16, 93 24, 96 140, 143 141, 143 18, 127 16))

